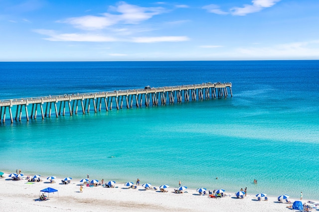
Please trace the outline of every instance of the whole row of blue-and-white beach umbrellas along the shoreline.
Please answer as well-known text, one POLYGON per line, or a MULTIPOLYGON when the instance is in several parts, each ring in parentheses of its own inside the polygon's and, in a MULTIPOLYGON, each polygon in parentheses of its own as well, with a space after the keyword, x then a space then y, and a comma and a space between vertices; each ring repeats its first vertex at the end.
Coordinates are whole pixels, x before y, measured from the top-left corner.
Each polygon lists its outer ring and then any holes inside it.
MULTIPOLYGON (((19 177, 22 177, 22 176, 23 176, 23 174, 21 174, 21 173, 20 174, 11 173, 11 174, 8 175, 8 177, 12 177, 12 178, 19 178, 19 177)), ((39 178, 40 176, 41 175, 34 175, 31 179, 36 179, 36 178, 39 178)), ((54 180, 55 178, 56 178, 55 176, 50 176, 50 177, 48 177, 46 179, 51 181, 51 180, 54 180)), ((70 181, 70 180, 72 180, 71 177, 66 177, 66 178, 63 179, 63 181, 65 181, 65 182, 70 181)), ((90 181, 89 179, 86 179, 86 178, 80 180, 80 182, 81 183, 90 183, 90 184, 99 183, 99 181, 96 180, 96 179, 90 181)), ((115 183, 116 183, 115 181, 111 180, 111 181, 108 181, 105 185, 112 186, 115 183)), ((124 186, 128 186, 128 187, 132 187, 133 185, 134 185, 133 182, 126 182, 124 184, 124 186)), ((151 183, 145 183, 145 184, 142 185, 142 187, 144 187, 146 189, 152 189, 152 184, 151 183)), ((169 185, 164 184, 164 185, 160 186, 160 189, 166 189, 168 187, 169 187, 169 185)), ((186 189, 187 189, 186 186, 180 186, 180 187, 177 188, 177 190, 179 190, 179 191, 184 191, 186 189)), ((202 193, 205 194, 206 189, 205 188, 198 188, 198 189, 196 189, 196 192, 199 192, 200 194, 202 194, 202 193)), ((216 194, 223 194, 224 192, 225 192, 224 189, 218 189, 218 190, 215 191, 216 194)), ((245 192, 244 191, 238 191, 238 192, 235 193, 235 195, 237 197, 241 197, 241 196, 245 195, 245 192)), ((259 194, 256 195, 257 198, 265 198, 266 196, 267 196, 267 194, 264 194, 264 193, 259 193, 259 194)), ((289 195, 281 195, 281 196, 278 197, 278 201, 286 200, 288 198, 289 198, 289 195)))

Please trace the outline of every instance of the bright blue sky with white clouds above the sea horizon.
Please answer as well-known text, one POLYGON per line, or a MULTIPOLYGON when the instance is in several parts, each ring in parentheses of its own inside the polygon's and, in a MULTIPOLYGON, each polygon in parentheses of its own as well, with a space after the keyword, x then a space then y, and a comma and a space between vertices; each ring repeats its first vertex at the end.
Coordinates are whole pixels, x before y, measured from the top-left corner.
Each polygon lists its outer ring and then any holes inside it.
POLYGON ((319 59, 319 0, 0 0, 0 61, 319 59))

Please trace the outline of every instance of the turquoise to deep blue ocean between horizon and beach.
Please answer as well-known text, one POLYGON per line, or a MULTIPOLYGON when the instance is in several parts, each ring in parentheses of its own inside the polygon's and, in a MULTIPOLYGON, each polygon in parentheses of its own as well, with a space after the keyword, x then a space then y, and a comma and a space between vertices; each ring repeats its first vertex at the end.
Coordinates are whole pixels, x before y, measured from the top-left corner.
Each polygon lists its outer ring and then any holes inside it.
POLYGON ((0 76, 0 100, 205 82, 231 82, 233 92, 6 119, 2 172, 319 199, 318 60, 0 62, 0 76))

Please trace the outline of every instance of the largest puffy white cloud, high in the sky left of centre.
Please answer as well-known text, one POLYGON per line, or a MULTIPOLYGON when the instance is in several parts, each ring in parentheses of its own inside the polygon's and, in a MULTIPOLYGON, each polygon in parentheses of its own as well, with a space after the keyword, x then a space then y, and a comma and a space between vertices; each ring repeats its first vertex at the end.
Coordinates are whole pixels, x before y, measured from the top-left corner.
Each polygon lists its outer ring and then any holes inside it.
POLYGON ((76 28, 84 30, 96 30, 103 29, 107 26, 120 22, 125 24, 138 24, 141 21, 152 18, 154 15, 165 12, 165 9, 162 7, 142 7, 128 4, 124 1, 120 1, 117 6, 110 6, 109 10, 115 14, 106 12, 100 16, 86 15, 72 17, 59 22, 69 23, 74 25, 76 28))

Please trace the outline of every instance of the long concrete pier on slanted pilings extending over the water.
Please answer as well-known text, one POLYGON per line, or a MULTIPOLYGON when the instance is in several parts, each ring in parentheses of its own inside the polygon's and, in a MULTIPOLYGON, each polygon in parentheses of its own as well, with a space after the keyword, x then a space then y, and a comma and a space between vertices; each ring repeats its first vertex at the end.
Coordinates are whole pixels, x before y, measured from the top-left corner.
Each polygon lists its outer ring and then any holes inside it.
POLYGON ((93 110, 93 108, 94 112, 101 111, 101 108, 104 107, 103 105, 105 105, 106 111, 111 110, 114 103, 116 108, 120 109, 123 108, 123 103, 127 108, 142 106, 143 100, 145 101, 145 106, 150 106, 151 103, 152 105, 165 105, 167 99, 168 103, 172 104, 175 100, 177 103, 181 103, 189 100, 195 101, 196 98, 197 100, 222 98, 228 96, 227 88, 232 97, 231 83, 203 83, 160 88, 147 86, 145 89, 125 91, 0 100, 0 122, 1 120, 3 123, 5 122, 8 111, 11 123, 13 123, 12 110, 14 111, 14 109, 12 107, 15 107, 15 120, 21 120, 22 112, 24 112, 26 120, 29 121, 30 118, 37 118, 38 108, 42 119, 44 119, 45 117, 51 117, 52 110, 54 110, 55 116, 58 117, 61 114, 65 115, 66 110, 68 110, 70 115, 77 114, 79 107, 81 107, 82 113, 85 114, 90 112, 90 109, 93 110), (28 106, 31 106, 30 111, 28 106))

